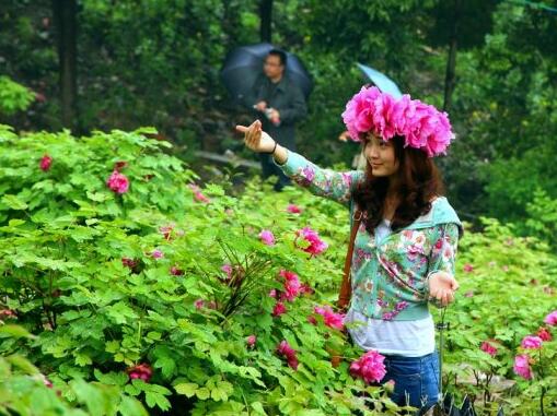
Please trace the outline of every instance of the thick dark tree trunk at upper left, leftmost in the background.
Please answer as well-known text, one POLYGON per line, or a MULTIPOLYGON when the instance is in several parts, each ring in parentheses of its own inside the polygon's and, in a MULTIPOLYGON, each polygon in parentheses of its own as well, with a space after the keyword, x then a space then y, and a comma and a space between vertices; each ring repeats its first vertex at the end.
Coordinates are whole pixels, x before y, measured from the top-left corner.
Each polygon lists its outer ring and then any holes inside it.
POLYGON ((58 45, 62 126, 77 127, 77 0, 53 0, 58 45))

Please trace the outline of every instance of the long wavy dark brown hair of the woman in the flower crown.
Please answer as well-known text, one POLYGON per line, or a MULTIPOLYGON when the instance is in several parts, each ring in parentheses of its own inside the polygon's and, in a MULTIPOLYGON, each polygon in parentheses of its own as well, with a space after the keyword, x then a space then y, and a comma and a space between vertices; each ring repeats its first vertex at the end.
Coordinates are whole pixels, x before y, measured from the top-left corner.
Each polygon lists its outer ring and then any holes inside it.
MULTIPOLYGON (((398 162, 396 188, 398 205, 394 213, 391 227, 393 230, 404 228, 420 215, 431 210, 431 200, 444 193, 444 187, 439 170, 426 152, 414 147, 404 147, 404 138, 392 139, 395 158, 398 162)), ((362 140, 365 146, 367 140, 362 140)), ((368 162, 365 179, 353 192, 353 200, 358 209, 364 214, 368 233, 373 234, 375 227, 383 219, 383 209, 388 190, 388 178, 374 177, 368 162)))

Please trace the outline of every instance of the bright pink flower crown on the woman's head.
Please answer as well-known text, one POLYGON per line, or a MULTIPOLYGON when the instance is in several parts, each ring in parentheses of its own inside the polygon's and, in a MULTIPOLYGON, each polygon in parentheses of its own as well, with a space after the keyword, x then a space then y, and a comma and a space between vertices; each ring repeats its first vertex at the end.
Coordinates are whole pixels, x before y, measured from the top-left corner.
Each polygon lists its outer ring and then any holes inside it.
POLYGON ((343 120, 355 142, 361 141, 360 135, 369 131, 385 141, 402 135, 405 147, 419 148, 429 157, 445 154, 454 139, 446 112, 410 99, 408 94, 395 99, 376 86, 363 86, 347 103, 343 120))

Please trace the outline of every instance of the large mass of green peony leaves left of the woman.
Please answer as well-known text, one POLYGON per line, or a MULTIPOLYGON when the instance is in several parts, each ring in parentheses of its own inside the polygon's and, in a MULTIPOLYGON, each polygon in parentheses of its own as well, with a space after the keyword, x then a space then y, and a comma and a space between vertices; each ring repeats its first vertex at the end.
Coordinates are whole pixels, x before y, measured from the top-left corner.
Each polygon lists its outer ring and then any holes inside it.
POLYGON ((77 140, 4 128, 0 292, 36 340, 4 341, 0 350, 26 355, 55 388, 96 379, 162 411, 179 395, 199 415, 349 414, 364 401, 387 402, 381 388, 348 376, 359 353, 346 335, 307 322, 314 306, 334 300, 343 250, 311 260, 294 247, 295 230, 311 219, 325 239, 343 240, 346 229, 329 230, 328 222, 346 213, 313 201, 307 209, 316 215, 299 218, 286 206, 300 190, 277 201, 257 183, 239 198, 208 186, 204 203, 187 186, 195 175, 146 131, 77 140), (42 170, 45 154, 51 165, 42 170), (127 163, 119 169, 130 181, 123 194, 106 185, 118 162, 127 163), (262 228, 275 233, 276 246, 259 241, 262 228), (223 264, 237 271, 235 280, 227 283, 223 264), (287 302, 288 312, 274 318, 268 293, 281 287, 281 269, 318 295, 287 302), (251 334, 254 348, 246 345, 251 334), (275 353, 282 340, 298 352, 298 371, 275 353), (329 350, 343 352, 340 367, 332 367, 329 350), (148 383, 128 377, 139 364, 153 370, 148 383))

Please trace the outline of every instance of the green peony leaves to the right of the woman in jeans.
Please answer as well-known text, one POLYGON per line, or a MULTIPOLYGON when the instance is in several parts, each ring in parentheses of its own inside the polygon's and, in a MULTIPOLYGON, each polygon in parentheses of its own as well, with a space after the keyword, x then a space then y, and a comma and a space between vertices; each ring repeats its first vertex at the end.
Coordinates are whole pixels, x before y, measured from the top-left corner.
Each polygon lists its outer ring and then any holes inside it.
POLYGON ((512 415, 538 413, 541 389, 552 385, 545 411, 555 412, 550 399, 557 395, 557 371, 552 364, 555 331, 550 329, 554 341, 543 345, 543 359, 534 352, 534 381, 517 377, 512 366, 521 340, 535 335, 555 309, 557 259, 535 238, 517 237, 513 227, 486 218, 483 224, 484 231, 468 230, 460 247, 461 296, 445 317, 451 328, 446 383, 483 402, 486 409, 494 397, 501 396, 512 415), (485 341, 497 346, 495 357, 479 349, 485 341), (510 379, 517 379, 517 384, 509 383, 510 379))

